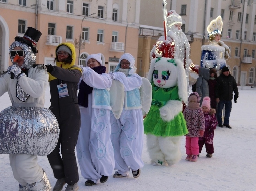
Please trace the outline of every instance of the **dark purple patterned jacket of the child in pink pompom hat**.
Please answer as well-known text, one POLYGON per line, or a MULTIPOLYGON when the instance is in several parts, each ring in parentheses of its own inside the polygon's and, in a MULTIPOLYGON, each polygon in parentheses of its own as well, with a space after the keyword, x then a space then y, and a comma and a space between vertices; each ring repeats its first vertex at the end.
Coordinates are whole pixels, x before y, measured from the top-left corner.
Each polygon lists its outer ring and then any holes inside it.
POLYGON ((215 117, 215 113, 216 113, 215 109, 210 109, 209 112, 204 113, 205 133, 203 134, 203 137, 205 138, 205 142, 207 144, 213 143, 214 130, 216 129, 216 125, 218 124, 217 119, 215 117))

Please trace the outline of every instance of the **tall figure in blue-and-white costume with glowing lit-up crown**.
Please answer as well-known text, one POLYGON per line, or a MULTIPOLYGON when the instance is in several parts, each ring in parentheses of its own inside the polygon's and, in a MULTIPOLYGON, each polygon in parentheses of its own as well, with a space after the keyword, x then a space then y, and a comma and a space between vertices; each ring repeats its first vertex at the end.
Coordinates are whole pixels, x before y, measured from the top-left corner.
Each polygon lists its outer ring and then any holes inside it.
POLYGON ((201 67, 220 70, 226 66, 226 59, 229 58, 229 47, 220 40, 223 22, 221 16, 212 20, 207 27, 209 33, 209 45, 203 45, 201 55, 201 67))

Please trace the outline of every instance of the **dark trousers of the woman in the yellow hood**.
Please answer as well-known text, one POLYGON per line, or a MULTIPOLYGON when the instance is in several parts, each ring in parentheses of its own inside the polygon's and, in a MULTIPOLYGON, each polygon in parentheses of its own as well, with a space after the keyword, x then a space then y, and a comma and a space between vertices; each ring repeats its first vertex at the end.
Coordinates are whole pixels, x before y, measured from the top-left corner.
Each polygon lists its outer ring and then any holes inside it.
POLYGON ((80 129, 80 110, 78 104, 51 106, 49 108, 57 118, 60 126, 59 141, 47 158, 56 179, 65 178, 73 185, 79 180, 75 146, 80 129), (61 155, 60 155, 61 146, 61 155), (61 157, 62 156, 62 157, 61 157))

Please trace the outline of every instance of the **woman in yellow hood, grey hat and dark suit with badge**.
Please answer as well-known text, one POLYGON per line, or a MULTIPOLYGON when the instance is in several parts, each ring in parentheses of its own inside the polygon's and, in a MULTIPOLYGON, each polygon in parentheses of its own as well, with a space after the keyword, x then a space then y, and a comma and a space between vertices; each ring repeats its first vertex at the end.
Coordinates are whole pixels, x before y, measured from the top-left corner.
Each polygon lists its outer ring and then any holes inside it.
POLYGON ((56 66, 46 65, 46 67, 51 93, 49 109, 59 122, 60 136, 54 151, 47 157, 53 169, 54 177, 57 179, 53 190, 61 190, 65 183, 68 184, 66 190, 78 190, 79 174, 75 158, 75 145, 81 122, 77 84, 82 75, 82 69, 75 65, 75 47, 73 44, 59 44, 55 54, 56 66), (60 144, 62 157, 60 156, 60 144))

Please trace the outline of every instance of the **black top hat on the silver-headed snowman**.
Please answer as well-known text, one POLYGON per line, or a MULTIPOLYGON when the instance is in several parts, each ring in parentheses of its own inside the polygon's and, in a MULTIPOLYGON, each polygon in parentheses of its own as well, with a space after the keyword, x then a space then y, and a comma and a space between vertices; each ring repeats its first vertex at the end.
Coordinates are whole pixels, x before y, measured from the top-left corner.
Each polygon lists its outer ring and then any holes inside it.
POLYGON ((38 50, 36 47, 36 43, 38 42, 41 35, 42 33, 39 30, 36 30, 35 28, 32 27, 27 27, 27 31, 25 32, 23 37, 16 36, 14 39, 15 41, 27 44, 31 47, 34 53, 37 53, 38 50))

